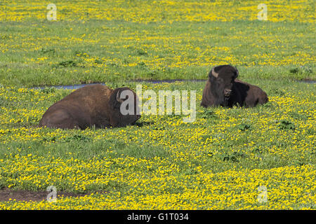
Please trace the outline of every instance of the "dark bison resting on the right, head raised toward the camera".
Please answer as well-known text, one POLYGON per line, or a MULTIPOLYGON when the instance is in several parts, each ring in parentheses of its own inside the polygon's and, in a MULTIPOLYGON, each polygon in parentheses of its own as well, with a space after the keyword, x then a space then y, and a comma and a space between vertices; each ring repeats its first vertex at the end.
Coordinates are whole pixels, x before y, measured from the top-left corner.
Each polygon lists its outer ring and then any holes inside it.
POLYGON ((203 90, 201 106, 250 107, 268 102, 268 96, 261 88, 235 79, 238 73, 230 65, 213 67, 203 90))

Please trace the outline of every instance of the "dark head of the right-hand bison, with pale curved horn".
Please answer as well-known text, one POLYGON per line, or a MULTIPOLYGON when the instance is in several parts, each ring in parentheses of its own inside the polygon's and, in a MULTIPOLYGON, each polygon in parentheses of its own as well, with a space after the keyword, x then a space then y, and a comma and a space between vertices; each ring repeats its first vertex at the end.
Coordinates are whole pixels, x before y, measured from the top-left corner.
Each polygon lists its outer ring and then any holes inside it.
POLYGON ((209 81, 211 82, 211 90, 216 99, 218 99, 218 104, 223 106, 228 104, 238 73, 238 70, 230 65, 215 66, 210 71, 209 81))

